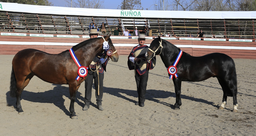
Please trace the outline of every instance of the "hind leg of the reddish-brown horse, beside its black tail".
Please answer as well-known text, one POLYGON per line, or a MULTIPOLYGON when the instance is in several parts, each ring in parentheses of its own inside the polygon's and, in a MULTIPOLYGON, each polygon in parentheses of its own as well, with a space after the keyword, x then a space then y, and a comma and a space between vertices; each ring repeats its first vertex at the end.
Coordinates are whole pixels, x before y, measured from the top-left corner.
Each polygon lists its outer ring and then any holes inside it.
POLYGON ((20 97, 21 97, 21 93, 23 91, 23 89, 29 84, 29 81, 30 79, 33 77, 33 75, 29 74, 25 79, 19 79, 17 78, 16 79, 16 88, 17 88, 17 91, 16 91, 16 105, 17 105, 17 108, 16 110, 18 111, 19 114, 23 114, 23 110, 22 110, 22 107, 21 107, 21 104, 20 104, 20 97))

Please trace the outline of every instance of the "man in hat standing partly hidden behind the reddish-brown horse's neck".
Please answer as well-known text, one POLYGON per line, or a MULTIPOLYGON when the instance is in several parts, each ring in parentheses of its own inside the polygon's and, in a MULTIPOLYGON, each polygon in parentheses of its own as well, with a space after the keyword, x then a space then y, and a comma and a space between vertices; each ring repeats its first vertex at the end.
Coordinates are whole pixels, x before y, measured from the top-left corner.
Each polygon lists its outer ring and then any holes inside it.
MULTIPOLYGON (((90 29, 89 36, 90 38, 97 38, 99 32, 97 29, 90 29)), ((101 54, 98 54, 101 56, 101 54)), ((103 110, 102 107, 102 97, 103 97, 103 78, 104 78, 104 69, 102 65, 106 65, 108 61, 107 59, 103 59, 100 57, 94 57, 93 61, 90 64, 90 67, 88 68, 88 74, 85 79, 85 97, 84 97, 84 107, 83 110, 88 110, 90 107, 90 102, 91 102, 91 90, 93 86, 93 79, 94 79, 94 86, 95 86, 95 97, 96 97, 96 103, 97 107, 99 110, 103 110), (96 65, 98 65, 98 69, 96 69, 96 65), (97 74, 97 70, 98 73, 97 74), (99 76, 99 78, 98 78, 99 76), (99 80, 98 80, 99 79, 99 80), (98 88, 99 84, 99 88, 98 88), (99 95, 98 95, 98 90, 99 90, 99 95)))

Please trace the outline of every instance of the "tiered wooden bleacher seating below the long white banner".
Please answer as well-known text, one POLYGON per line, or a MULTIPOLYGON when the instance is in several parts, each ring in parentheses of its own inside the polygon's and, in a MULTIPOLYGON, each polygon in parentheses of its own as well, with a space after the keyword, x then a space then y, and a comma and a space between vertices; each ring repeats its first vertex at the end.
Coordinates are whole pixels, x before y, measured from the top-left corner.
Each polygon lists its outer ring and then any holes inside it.
POLYGON ((106 24, 107 33, 113 35, 116 27, 122 30, 124 27, 132 33, 134 27, 138 27, 141 34, 145 32, 145 26, 150 24, 153 36, 159 33, 177 36, 187 36, 191 33, 194 37, 199 30, 204 34, 215 34, 219 38, 248 38, 255 39, 256 23, 253 19, 154 19, 154 18, 110 18, 93 16, 68 16, 45 15, 22 12, 0 11, 1 32, 30 32, 39 34, 86 34, 91 22, 101 26, 106 24))

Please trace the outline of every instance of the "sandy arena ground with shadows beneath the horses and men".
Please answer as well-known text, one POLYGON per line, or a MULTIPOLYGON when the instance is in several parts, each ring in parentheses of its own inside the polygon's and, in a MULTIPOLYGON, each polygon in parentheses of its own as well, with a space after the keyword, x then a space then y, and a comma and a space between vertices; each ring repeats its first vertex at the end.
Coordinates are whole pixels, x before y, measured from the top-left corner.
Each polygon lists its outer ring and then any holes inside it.
MULTIPOLYGON (((92 96, 90 109, 83 111, 84 82, 76 95, 77 120, 69 115, 68 85, 56 85, 33 77, 22 93, 24 114, 16 112, 11 98, 10 75, 14 55, 0 55, 0 135, 88 135, 88 136, 255 136, 256 59, 234 59, 238 81, 238 113, 233 98, 218 110, 222 89, 217 78, 182 82, 180 110, 174 110, 173 82, 159 56, 150 70, 145 106, 138 100, 134 71, 127 56, 109 61, 104 76, 103 111, 92 96)), ((93 94, 95 90, 93 89, 93 94)))

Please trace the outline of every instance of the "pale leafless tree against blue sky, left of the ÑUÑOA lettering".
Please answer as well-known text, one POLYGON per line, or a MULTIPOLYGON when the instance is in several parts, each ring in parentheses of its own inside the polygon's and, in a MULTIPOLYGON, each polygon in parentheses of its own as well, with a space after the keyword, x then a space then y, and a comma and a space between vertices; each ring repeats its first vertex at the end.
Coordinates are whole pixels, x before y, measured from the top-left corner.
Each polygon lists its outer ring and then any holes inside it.
MULTIPOLYGON (((65 0, 68 5, 66 7, 71 7, 71 1, 65 0)), ((73 0, 72 7, 74 8, 104 8, 104 0, 73 0)))

